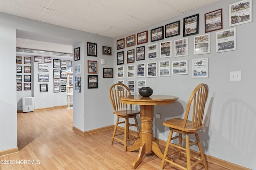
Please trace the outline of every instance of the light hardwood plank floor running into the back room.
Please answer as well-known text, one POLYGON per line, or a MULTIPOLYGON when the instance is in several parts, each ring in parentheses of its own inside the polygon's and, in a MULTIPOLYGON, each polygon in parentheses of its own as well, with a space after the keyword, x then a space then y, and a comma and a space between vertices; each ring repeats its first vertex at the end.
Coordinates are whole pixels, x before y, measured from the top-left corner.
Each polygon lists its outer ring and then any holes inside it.
MULTIPOLYGON (((0 157, 15 162, 0 164, 0 170, 132 170, 138 151, 124 152, 123 144, 116 140, 110 145, 114 129, 85 136, 74 133, 72 111, 54 108, 18 113, 19 152, 0 157)), ((160 148, 164 150, 164 146, 160 148)), ((161 161, 156 155, 144 156, 136 170, 159 170, 161 161)), ((183 156, 180 162, 185 161, 183 156)), ((207 164, 209 170, 225 170, 207 164)), ((169 164, 165 169, 177 170, 169 164)), ((202 169, 200 164, 193 170, 202 169)))

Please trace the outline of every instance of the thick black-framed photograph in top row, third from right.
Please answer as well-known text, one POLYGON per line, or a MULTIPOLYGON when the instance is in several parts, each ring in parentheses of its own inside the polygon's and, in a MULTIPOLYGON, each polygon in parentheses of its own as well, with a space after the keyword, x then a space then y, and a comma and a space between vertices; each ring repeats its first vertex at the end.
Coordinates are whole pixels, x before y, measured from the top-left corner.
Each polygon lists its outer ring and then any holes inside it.
POLYGON ((183 18, 183 37, 198 34, 199 14, 183 18))

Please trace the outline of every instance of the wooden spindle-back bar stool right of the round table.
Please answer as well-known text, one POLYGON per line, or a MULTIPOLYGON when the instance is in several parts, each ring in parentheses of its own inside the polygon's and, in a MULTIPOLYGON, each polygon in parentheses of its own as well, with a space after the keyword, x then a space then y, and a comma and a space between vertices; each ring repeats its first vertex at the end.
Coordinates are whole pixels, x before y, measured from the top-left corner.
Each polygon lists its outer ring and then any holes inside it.
POLYGON ((161 170, 164 168, 164 163, 168 162, 179 169, 183 170, 191 170, 191 168, 200 162, 203 162, 204 168, 207 170, 206 160, 204 157, 204 153, 202 150, 202 146, 200 143, 200 139, 198 136, 198 131, 200 131, 204 125, 202 124, 203 116, 204 116, 204 107, 206 104, 206 100, 208 97, 208 86, 206 84, 199 84, 196 86, 194 91, 192 92, 190 99, 188 100, 188 105, 186 108, 186 113, 184 119, 180 118, 174 118, 163 122, 164 126, 167 126, 170 128, 170 133, 168 136, 168 140, 166 143, 166 148, 164 150, 164 156, 161 164, 161 170), (190 109, 190 107, 192 108, 190 109), (192 121, 188 120, 188 114, 192 112, 192 121), (176 137, 172 137, 172 133, 176 132, 179 135, 176 137), (185 139, 182 138, 182 134, 185 135, 185 139), (189 134, 195 134, 196 141, 190 141, 189 134), (171 143, 174 139, 179 139, 178 145, 171 143), (186 142, 186 147, 182 146, 182 141, 186 142), (190 153, 190 147, 192 145, 198 145, 200 156, 199 155, 192 155, 190 153), (176 150, 173 152, 170 152, 168 154, 169 146, 174 147, 176 150), (180 164, 177 164, 174 162, 170 156, 172 154, 178 153, 178 159, 180 159, 181 154, 186 155, 187 159, 187 167, 183 167, 180 164), (194 158, 196 162, 191 165, 190 157, 194 158))

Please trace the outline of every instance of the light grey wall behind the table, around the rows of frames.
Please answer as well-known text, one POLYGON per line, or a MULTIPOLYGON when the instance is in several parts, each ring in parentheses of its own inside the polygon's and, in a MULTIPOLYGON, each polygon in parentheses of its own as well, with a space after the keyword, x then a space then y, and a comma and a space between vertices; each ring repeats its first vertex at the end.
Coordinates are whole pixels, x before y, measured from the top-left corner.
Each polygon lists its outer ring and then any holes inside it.
MULTIPOLYGON (((125 49, 114 50, 116 54, 124 51, 125 78, 117 78, 124 80, 127 84, 127 61, 126 51, 135 49, 136 47, 146 46, 146 60, 135 61, 135 63, 148 63, 154 61, 164 61, 166 59, 172 61, 188 60, 188 75, 171 75, 169 77, 157 78, 133 78, 134 80, 145 80, 146 86, 154 90, 153 94, 167 94, 178 96, 178 103, 166 106, 155 106, 154 113, 161 113, 161 119, 154 119, 154 137, 167 140, 169 129, 162 125, 162 121, 174 117, 182 117, 186 109, 188 98, 196 85, 206 83, 209 86, 208 102, 206 104, 204 125, 205 128, 200 132, 200 139, 203 144, 204 152, 210 156, 232 162, 247 168, 256 167, 256 156, 253 141, 256 140, 256 105, 255 105, 255 83, 256 83, 256 58, 255 58, 255 39, 256 39, 256 23, 255 11, 256 6, 253 3, 252 18, 253 21, 236 26, 237 50, 222 53, 216 53, 216 31, 210 32, 211 35, 211 53, 204 55, 193 55, 194 35, 188 36, 188 56, 174 57, 174 40, 183 37, 183 18, 199 14, 199 34, 205 34, 204 31, 204 14, 222 8, 223 12, 223 30, 229 29, 228 24, 228 5, 237 2, 237 0, 217 1, 210 5, 192 10, 185 14, 170 18, 168 20, 150 25, 146 28, 139 29, 127 35, 116 37, 116 40, 122 39, 148 30, 148 43, 128 47, 125 49), (164 38, 160 41, 150 42, 150 30, 165 26, 180 20, 180 35, 164 38), (147 46, 150 44, 158 44, 158 55, 160 50, 160 42, 172 40, 172 57, 154 60, 147 60, 147 46), (209 58, 209 78, 192 78, 192 59, 209 58), (229 80, 230 71, 242 71, 242 81, 231 82, 229 80)), ((165 31, 164 31, 165 32, 165 31)), ((114 69, 116 71, 116 57, 114 58, 114 69)), ((159 73, 158 73, 159 74, 159 73)), ((137 84, 136 84, 136 93, 137 84)))

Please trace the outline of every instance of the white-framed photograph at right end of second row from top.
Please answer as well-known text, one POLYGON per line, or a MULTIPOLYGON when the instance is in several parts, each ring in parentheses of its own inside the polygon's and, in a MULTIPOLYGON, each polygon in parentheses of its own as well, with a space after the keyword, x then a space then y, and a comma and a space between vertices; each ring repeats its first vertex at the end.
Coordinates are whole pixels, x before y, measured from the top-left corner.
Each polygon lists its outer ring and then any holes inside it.
POLYGON ((236 50, 236 27, 216 32, 216 53, 236 50))

